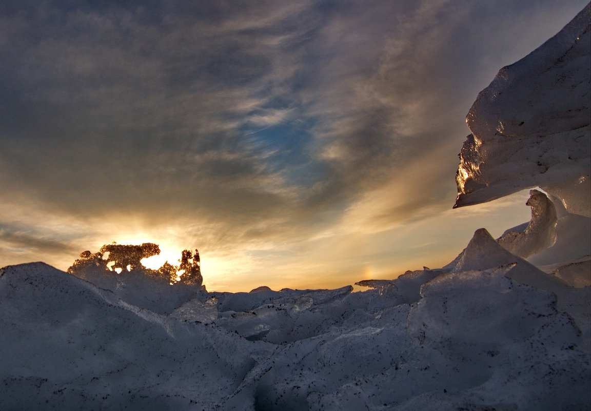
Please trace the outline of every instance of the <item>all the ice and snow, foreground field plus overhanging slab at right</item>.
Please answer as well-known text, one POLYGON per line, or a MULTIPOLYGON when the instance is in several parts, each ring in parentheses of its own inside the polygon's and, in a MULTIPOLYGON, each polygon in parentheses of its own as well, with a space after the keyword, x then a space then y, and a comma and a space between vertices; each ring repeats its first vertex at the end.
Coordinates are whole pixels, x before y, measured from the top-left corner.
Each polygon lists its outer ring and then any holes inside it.
POLYGON ((530 222, 497 240, 478 229, 446 266, 362 292, 4 267, 0 409, 591 409, 589 115, 569 111, 589 95, 571 82, 588 73, 589 11, 501 70, 469 114, 459 205, 543 186, 530 222))

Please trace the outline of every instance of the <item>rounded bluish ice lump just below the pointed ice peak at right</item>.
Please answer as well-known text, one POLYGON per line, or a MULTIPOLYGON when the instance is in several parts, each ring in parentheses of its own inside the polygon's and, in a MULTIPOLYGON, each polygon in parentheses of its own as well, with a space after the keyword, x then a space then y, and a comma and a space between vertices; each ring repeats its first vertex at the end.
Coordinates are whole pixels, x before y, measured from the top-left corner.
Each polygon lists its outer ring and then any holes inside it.
MULTIPOLYGON (((424 284, 423 298, 408 316, 409 334, 419 344, 442 346, 441 349, 457 350, 457 354, 466 351, 461 345, 492 347, 508 338, 534 335, 537 323, 521 313, 530 310, 535 312, 534 318, 554 314, 555 297, 530 287, 515 286, 504 276, 510 269, 509 266, 441 274, 424 284), (479 309, 472 310, 475 306, 479 309)), ((576 332, 574 328, 573 332, 576 332)))

